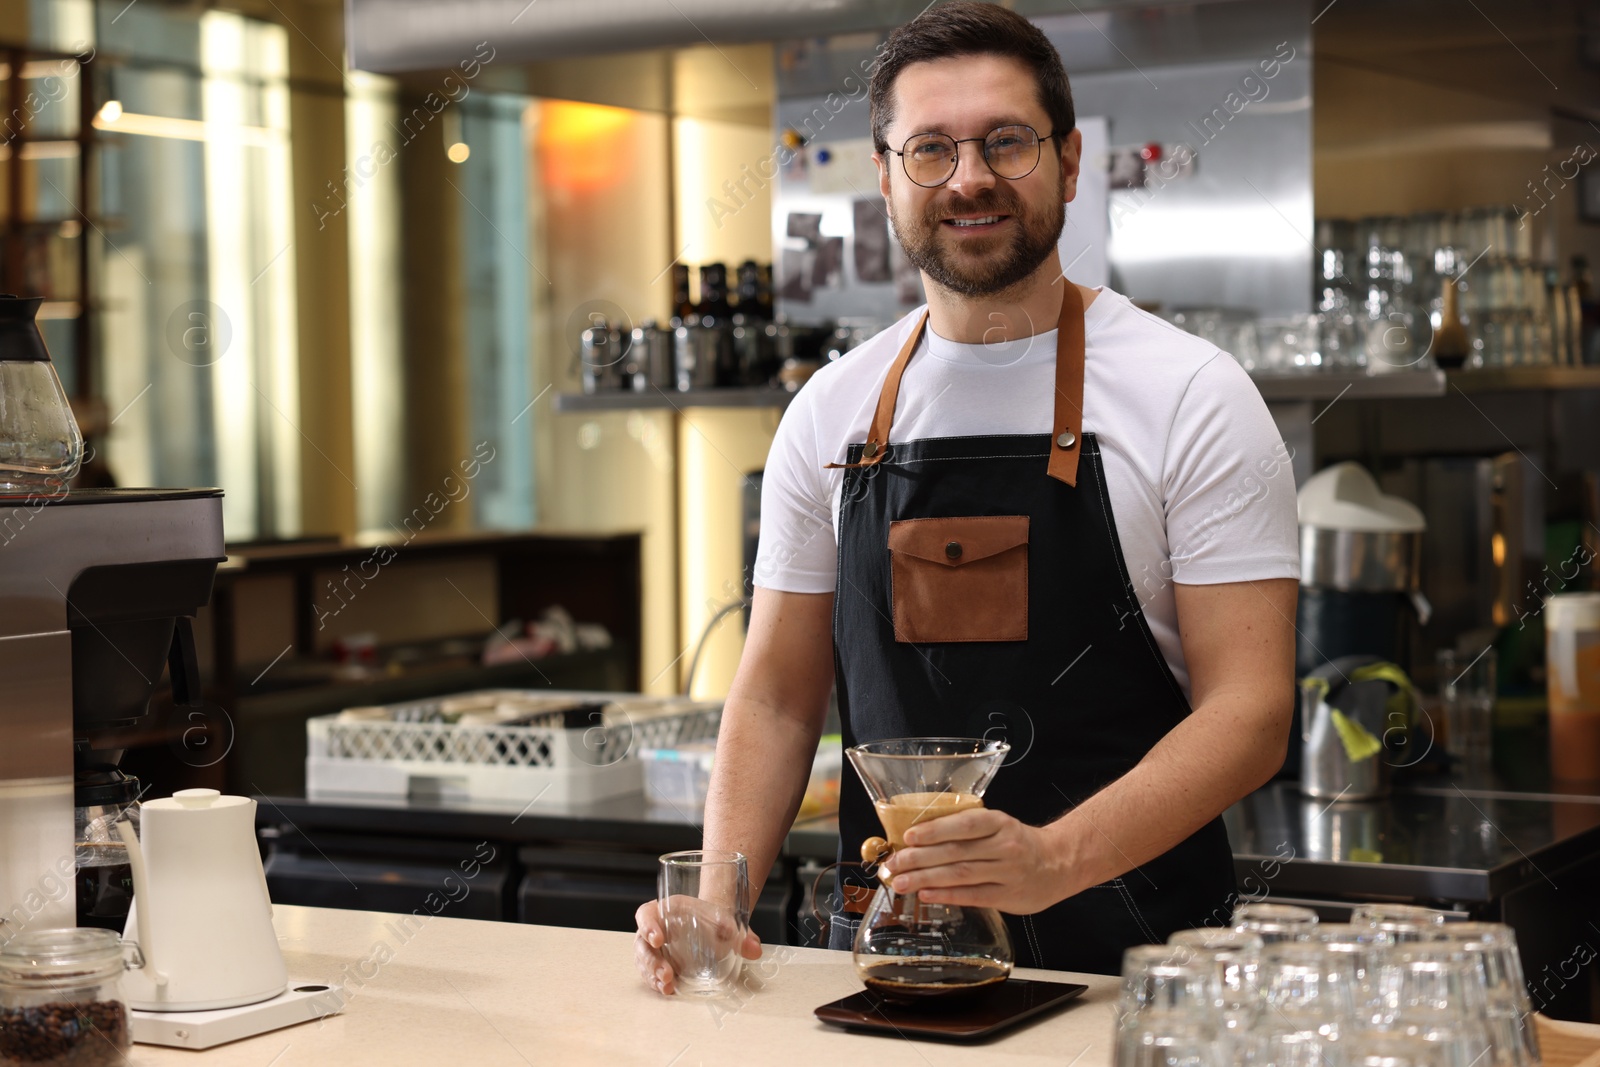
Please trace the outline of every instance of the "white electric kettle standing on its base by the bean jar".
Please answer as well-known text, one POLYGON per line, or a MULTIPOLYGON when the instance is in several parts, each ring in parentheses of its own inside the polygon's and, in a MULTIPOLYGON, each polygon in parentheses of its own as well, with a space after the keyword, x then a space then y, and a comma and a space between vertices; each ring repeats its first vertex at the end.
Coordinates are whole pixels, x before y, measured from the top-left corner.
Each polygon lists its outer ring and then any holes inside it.
POLYGON ((256 801, 214 789, 149 800, 141 830, 117 824, 133 869, 123 937, 144 966, 122 977, 130 1008, 208 1011, 288 989, 272 901, 256 849, 256 801))

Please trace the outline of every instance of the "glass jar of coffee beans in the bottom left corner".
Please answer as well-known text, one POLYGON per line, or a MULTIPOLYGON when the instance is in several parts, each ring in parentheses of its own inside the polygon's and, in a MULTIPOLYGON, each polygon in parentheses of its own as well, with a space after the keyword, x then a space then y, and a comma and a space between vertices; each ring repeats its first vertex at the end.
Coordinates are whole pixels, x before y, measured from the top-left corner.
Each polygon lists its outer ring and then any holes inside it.
POLYGON ((0 1067, 125 1064, 123 953, 115 931, 90 928, 22 931, 0 947, 0 1067))

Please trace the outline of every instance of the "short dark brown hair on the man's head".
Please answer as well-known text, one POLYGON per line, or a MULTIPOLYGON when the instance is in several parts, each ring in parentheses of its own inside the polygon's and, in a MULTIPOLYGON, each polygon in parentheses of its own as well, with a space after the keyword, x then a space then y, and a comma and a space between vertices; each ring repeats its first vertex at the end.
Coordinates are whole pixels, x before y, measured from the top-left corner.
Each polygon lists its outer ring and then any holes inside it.
MULTIPOLYGON (((867 106, 872 117, 872 146, 888 149, 885 131, 894 118, 894 80, 914 62, 950 56, 1006 56, 1034 72, 1038 102, 1062 138, 1077 126, 1072 86, 1061 66, 1061 54, 1045 34, 1016 11, 982 0, 952 0, 930 8, 888 40, 872 69, 867 106)), ((1050 130, 1040 130, 1050 133, 1050 130)))

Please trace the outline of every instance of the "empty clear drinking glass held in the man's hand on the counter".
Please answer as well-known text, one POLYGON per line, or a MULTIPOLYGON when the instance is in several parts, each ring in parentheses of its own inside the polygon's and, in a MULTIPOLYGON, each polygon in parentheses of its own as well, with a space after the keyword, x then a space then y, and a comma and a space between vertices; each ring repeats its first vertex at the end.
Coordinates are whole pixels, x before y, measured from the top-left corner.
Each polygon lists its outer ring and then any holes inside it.
POLYGON ((662 952, 682 993, 717 997, 739 977, 750 929, 750 878, 744 853, 686 851, 661 857, 656 880, 662 952))

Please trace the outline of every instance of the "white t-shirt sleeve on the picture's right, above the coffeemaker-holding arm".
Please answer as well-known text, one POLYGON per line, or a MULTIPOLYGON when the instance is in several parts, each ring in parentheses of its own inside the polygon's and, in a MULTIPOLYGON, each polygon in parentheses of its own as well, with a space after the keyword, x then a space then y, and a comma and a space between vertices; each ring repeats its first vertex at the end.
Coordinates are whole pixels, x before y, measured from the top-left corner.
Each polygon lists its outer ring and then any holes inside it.
POLYGON ((1250 374, 1226 354, 1195 371, 1179 402, 1162 482, 1173 581, 1299 577, 1291 456, 1250 374))

